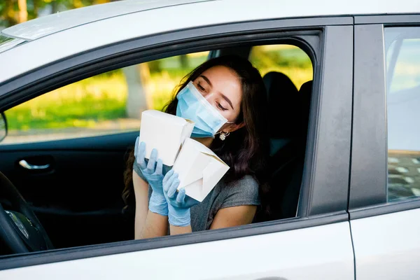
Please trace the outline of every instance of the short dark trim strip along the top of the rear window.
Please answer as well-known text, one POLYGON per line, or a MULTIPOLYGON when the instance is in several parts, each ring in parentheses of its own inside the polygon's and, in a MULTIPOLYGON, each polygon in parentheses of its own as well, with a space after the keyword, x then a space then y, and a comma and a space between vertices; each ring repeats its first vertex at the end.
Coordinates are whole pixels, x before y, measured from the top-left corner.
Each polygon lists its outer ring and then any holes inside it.
POLYGON ((406 15, 357 15, 354 17, 355 25, 375 24, 416 24, 420 25, 420 14, 406 15))

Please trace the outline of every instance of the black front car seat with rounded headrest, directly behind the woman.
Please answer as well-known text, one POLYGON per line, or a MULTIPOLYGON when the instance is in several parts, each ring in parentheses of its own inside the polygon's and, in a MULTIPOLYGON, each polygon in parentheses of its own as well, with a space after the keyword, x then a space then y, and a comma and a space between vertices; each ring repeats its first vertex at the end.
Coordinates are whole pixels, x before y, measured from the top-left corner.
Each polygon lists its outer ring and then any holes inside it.
POLYGON ((262 79, 268 99, 270 158, 267 173, 270 188, 261 195, 256 222, 276 220, 280 216, 279 205, 285 184, 280 179, 288 182, 290 178, 285 178, 288 174, 279 174, 279 170, 293 169, 290 163, 295 158, 294 139, 299 133, 295 120, 299 117, 300 98, 292 80, 275 71, 265 74, 262 79))

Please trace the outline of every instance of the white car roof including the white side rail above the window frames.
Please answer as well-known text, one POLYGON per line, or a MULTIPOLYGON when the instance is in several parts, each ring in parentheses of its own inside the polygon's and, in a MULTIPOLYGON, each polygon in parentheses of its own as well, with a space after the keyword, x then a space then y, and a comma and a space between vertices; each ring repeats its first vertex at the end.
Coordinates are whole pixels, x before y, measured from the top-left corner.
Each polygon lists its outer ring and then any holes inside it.
MULTIPOLYGON (((195 29, 191 32, 199 36, 197 29, 200 27, 238 24, 235 29, 240 30, 244 22, 262 20, 346 15, 350 22, 352 15, 415 13, 420 14, 418 0, 293 0, 287 5, 279 0, 125 0, 104 3, 69 10, 61 15, 48 15, 3 30, 3 34, 24 41, 0 52, 0 65, 8 65, 0 67, 0 84, 65 57, 156 34, 195 29)), ((223 28, 218 32, 223 33, 223 28)), ((176 41, 176 36, 179 35, 174 34, 165 40, 176 41)))

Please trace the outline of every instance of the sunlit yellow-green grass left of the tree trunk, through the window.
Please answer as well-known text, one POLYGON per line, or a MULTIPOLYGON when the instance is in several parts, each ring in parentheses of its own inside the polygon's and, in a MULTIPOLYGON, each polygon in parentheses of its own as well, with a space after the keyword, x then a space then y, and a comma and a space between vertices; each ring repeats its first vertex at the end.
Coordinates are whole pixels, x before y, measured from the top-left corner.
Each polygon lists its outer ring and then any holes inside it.
POLYGON ((127 85, 123 75, 96 76, 66 85, 6 112, 10 130, 94 127, 125 118, 127 85))

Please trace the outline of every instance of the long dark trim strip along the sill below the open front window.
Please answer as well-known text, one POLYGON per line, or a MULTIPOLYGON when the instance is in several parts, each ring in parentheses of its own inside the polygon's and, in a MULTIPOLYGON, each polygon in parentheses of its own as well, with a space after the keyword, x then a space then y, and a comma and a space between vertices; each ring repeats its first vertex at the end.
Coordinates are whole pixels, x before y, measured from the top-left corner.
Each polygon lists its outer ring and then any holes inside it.
POLYGON ((56 249, 35 253, 3 255, 0 257, 0 270, 12 269, 16 267, 27 267, 31 265, 41 265, 52 262, 64 262, 67 260, 94 258, 118 253, 144 251, 155 248, 166 248, 171 246, 181 246, 209 241, 248 237, 253 235, 264 235, 267 233, 299 230, 302 228, 311 228, 320 225, 329 225, 332 223, 340 223, 346 221, 349 221, 349 215, 345 211, 341 211, 323 216, 313 216, 310 218, 291 218, 283 221, 256 223, 235 228, 193 232, 187 235, 121 241, 111 244, 56 249))

